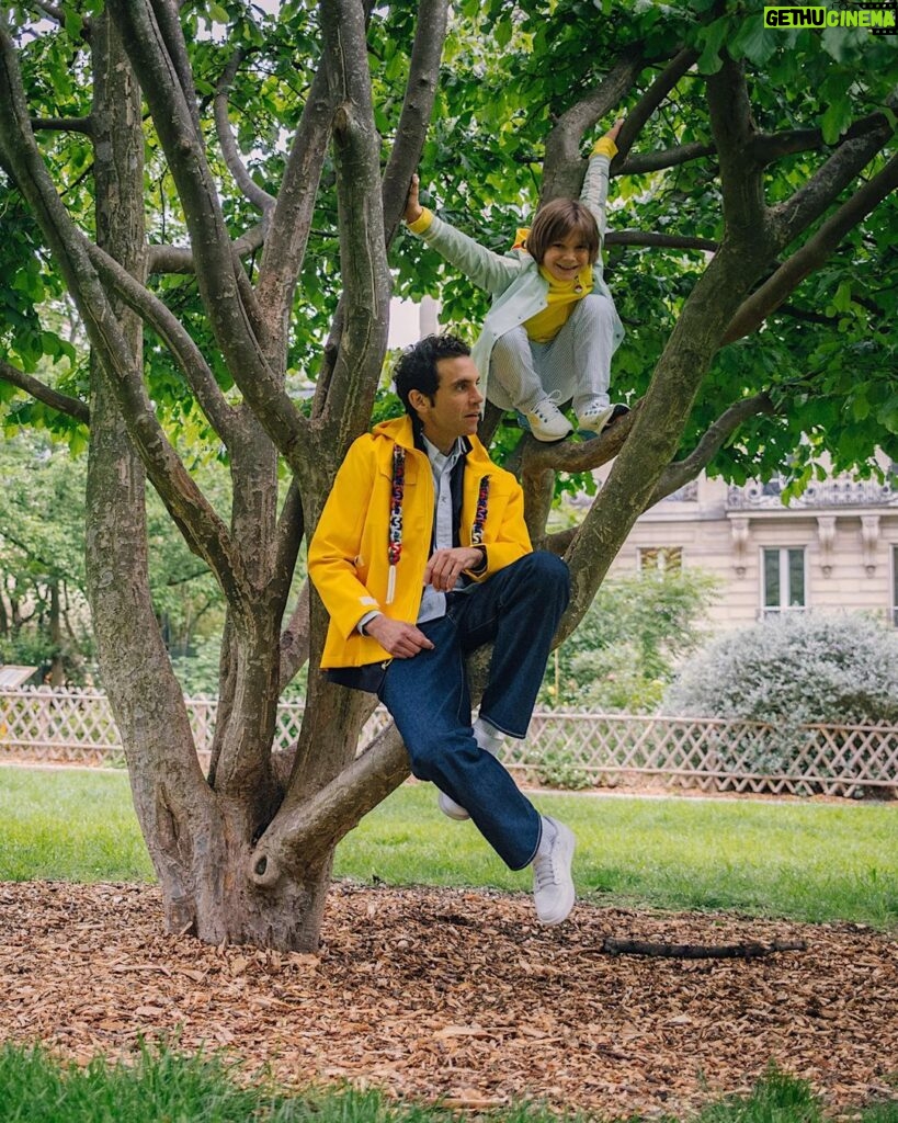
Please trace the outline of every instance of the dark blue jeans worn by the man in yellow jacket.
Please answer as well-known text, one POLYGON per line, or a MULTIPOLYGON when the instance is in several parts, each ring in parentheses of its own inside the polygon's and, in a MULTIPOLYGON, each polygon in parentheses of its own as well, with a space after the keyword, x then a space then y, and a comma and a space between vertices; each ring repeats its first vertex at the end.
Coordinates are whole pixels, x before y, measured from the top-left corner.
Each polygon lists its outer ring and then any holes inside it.
POLYGON ((532 861, 540 816, 474 739, 465 657, 494 641, 480 715, 523 738, 569 596, 565 563, 543 550, 528 554, 470 591, 450 594, 447 614, 420 626, 433 650, 394 659, 379 691, 412 773, 460 803, 512 869, 532 861))

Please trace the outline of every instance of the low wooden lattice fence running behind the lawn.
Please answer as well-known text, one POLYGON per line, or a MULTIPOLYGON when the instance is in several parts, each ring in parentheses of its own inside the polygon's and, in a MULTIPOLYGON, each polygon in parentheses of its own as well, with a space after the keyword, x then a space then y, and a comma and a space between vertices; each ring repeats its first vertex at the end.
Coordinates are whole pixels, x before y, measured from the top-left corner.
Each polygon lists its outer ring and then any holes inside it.
MULTIPOLYGON (((217 703, 187 702, 196 751, 209 752, 217 703)), ((278 710, 276 746, 288 749, 302 703, 278 710)), ((360 751, 384 728, 369 719, 360 751)), ((121 743, 104 695, 47 687, 0 690, 0 760, 117 763, 121 743)), ((505 764, 539 783, 640 786, 716 792, 898 795, 898 728, 766 725, 707 718, 537 713, 526 741, 510 741, 505 764)))

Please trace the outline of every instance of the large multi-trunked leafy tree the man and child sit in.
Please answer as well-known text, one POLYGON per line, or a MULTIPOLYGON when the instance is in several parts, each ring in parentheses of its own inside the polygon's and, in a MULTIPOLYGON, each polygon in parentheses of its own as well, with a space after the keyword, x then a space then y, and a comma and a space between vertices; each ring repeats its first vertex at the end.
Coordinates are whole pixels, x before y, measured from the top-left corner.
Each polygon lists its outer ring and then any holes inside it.
MULTIPOLYGON (((821 444, 864 465, 898 428, 882 363, 895 298, 878 290, 894 268, 891 40, 764 29, 753 3, 601 8, 466 0, 448 26, 445 0, 285 0, 272 18, 239 0, 40 0, 2 18, 17 238, 1 252, 28 263, 28 284, 9 298, 0 374, 46 423, 89 435, 94 630, 173 931, 314 947, 335 844, 407 774, 392 728, 356 756, 366 697, 314 672, 315 597, 288 620, 285 606, 372 414, 387 255, 419 164, 441 204, 483 212, 478 232, 504 245, 539 165, 542 198, 576 193, 587 133, 625 108, 613 173, 642 229, 608 254, 631 327, 616 377, 641 396, 596 441, 525 438, 511 456, 534 541, 571 568, 559 640, 635 518, 705 465, 770 471, 798 449, 801 472, 821 444), (832 314, 815 296, 825 277, 832 314), (63 284, 91 358, 52 385, 33 373, 53 344, 36 291, 63 284), (840 331, 856 386, 834 358, 840 331), (196 483, 185 419, 227 464, 228 511, 196 483), (547 535, 556 474, 612 457, 576 530, 547 535), (208 776, 149 596, 145 475, 227 603, 208 776), (306 655, 305 720, 281 761, 275 707, 306 655)), ((418 247, 392 252, 402 290, 430 286, 438 266, 418 247)), ((457 280, 439 289, 452 316, 482 310, 457 280)), ((497 423, 488 412, 485 439, 497 423)))

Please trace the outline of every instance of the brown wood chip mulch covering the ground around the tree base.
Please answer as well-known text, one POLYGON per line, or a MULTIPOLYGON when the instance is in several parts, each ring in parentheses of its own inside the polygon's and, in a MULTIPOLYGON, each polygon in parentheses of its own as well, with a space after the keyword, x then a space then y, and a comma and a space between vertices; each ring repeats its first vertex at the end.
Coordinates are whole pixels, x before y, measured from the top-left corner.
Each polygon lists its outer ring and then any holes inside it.
POLYGON ((772 1060, 834 1115, 898 1097, 898 935, 523 895, 335 885, 318 955, 166 935, 158 891, 0 885, 0 1040, 127 1056, 143 1035, 224 1047, 291 1086, 351 1080, 466 1108, 523 1098, 686 1114, 772 1060), (612 956, 607 937, 800 941, 757 959, 612 956))

